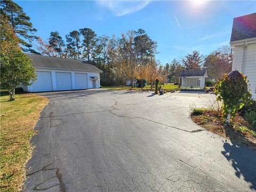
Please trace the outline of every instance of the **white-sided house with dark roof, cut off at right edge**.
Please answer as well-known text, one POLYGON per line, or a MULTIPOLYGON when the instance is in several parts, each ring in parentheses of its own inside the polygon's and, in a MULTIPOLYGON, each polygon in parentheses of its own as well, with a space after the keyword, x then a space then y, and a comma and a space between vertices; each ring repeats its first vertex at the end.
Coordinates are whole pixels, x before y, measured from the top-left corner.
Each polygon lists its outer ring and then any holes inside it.
POLYGON ((234 18, 230 46, 232 70, 247 76, 252 98, 256 99, 256 13, 234 18))

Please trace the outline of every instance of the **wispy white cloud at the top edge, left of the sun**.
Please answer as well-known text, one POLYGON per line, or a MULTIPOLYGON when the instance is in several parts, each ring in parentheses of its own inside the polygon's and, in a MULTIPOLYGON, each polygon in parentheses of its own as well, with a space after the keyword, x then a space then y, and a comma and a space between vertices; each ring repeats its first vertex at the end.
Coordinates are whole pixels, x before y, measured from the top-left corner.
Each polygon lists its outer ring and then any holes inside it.
POLYGON ((139 11, 146 7, 150 1, 97 1, 103 7, 107 7, 116 16, 120 17, 139 11))

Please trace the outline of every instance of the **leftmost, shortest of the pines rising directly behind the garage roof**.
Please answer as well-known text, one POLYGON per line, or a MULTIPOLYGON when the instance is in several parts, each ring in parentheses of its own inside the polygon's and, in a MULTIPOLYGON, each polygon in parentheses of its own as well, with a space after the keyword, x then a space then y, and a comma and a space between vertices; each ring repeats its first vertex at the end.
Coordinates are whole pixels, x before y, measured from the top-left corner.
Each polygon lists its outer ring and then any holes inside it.
POLYGON ((55 51, 58 52, 59 57, 62 57, 62 52, 65 50, 65 43, 58 31, 51 32, 49 37, 49 44, 55 51))

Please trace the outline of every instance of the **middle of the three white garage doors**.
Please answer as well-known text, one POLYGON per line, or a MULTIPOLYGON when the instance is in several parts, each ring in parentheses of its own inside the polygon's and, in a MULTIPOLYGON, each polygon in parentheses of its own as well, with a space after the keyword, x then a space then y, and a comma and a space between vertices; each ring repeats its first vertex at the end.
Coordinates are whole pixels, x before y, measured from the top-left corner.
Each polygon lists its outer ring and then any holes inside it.
POLYGON ((56 72, 57 90, 71 90, 71 73, 56 72))

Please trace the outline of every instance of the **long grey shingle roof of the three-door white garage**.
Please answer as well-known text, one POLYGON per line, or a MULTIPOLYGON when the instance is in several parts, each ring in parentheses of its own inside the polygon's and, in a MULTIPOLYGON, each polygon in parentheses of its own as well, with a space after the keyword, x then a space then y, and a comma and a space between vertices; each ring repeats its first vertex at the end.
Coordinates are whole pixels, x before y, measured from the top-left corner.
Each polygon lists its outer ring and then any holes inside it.
POLYGON ((45 67, 54 69, 83 70, 101 73, 102 70, 87 63, 75 59, 49 57, 38 54, 26 53, 33 60, 33 67, 45 67))

